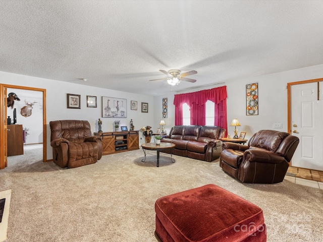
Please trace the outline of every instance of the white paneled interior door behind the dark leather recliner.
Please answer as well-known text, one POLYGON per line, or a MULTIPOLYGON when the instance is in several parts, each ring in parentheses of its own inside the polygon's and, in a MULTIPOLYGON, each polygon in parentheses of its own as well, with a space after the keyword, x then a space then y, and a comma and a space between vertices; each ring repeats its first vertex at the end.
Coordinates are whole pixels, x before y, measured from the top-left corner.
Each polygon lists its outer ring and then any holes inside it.
MULTIPOLYGON (((321 91, 323 83, 319 85, 321 91)), ((300 141, 292 166, 323 170, 323 105, 320 99, 317 82, 291 86, 292 135, 300 141)))

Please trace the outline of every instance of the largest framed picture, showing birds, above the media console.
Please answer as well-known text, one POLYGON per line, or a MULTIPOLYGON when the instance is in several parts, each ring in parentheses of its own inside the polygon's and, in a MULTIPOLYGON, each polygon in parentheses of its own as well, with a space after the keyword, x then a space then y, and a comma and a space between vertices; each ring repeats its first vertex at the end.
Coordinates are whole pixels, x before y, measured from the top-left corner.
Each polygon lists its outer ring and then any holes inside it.
POLYGON ((102 97, 102 117, 127 117, 127 99, 102 97))

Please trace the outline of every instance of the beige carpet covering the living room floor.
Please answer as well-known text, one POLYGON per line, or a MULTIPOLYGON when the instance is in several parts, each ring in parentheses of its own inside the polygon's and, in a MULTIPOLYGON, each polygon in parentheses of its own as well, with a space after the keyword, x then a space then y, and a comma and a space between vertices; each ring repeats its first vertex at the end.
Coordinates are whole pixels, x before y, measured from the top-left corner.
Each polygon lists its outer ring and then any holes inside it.
POLYGON ((41 150, 25 153, 0 170, 2 190, 12 189, 8 242, 157 241, 155 200, 206 184, 261 207, 267 241, 323 241, 323 190, 287 180, 241 184, 219 162, 179 156, 173 156, 175 163, 163 156, 156 167, 155 155, 141 162, 142 150, 103 156, 96 164, 73 169, 43 163, 41 150))

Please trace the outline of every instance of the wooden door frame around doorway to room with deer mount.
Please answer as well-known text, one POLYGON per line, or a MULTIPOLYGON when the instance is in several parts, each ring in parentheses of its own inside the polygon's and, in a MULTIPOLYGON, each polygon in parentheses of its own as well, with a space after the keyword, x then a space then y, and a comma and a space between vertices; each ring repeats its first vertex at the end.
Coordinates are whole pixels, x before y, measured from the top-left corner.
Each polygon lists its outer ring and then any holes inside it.
MULTIPOLYGON (((43 162, 47 160, 47 128, 46 128, 46 89, 42 88, 34 88, 34 87, 24 87, 24 86, 16 86, 16 85, 9 85, 9 84, 0 84, 0 106, 2 108, 7 108, 5 106, 5 88, 14 88, 14 89, 23 89, 23 90, 30 90, 30 91, 39 91, 42 92, 42 102, 43 102, 43 114, 42 114, 42 119, 43 119, 43 128, 42 128, 42 147, 43 147, 43 152, 42 152, 42 159, 43 162)), ((7 128, 7 109, 4 109, 0 112, 0 143, 1 144, 6 144, 2 145, 0 148, 0 169, 4 169, 7 167, 7 164, 5 162, 5 157, 6 150, 7 148, 7 141, 5 138, 5 129, 7 128)))

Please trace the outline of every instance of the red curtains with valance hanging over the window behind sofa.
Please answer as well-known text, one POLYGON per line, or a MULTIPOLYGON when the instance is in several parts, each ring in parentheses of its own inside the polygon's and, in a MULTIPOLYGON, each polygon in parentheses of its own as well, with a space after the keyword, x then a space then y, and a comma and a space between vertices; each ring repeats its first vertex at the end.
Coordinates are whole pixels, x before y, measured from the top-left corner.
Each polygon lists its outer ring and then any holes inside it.
POLYGON ((191 124, 205 125, 205 103, 210 100, 214 102, 214 126, 227 130, 227 97, 227 86, 176 94, 174 96, 175 125, 183 125, 183 103, 190 106, 191 124))

